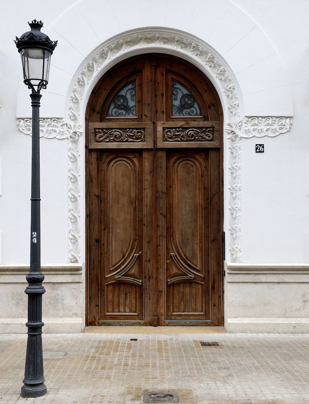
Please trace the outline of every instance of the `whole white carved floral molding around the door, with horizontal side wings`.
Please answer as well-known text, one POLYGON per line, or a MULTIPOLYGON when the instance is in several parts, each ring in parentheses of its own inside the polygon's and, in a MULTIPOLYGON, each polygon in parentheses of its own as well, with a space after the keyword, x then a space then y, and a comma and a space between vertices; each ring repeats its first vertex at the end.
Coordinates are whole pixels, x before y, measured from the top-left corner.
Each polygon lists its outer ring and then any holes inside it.
MULTIPOLYGON (((88 99, 99 78, 123 59, 167 53, 196 65, 215 86, 224 115, 224 228, 229 233, 226 261, 241 262, 241 143, 243 138, 277 136, 290 130, 287 117, 246 117, 240 86, 223 57, 203 40, 177 29, 141 28, 100 44, 84 59, 67 91, 64 118, 42 119, 42 136, 68 139, 69 262, 84 262, 84 126, 88 99)), ((31 133, 31 120, 18 120, 31 133), (30 124, 29 124, 30 122, 30 124)))

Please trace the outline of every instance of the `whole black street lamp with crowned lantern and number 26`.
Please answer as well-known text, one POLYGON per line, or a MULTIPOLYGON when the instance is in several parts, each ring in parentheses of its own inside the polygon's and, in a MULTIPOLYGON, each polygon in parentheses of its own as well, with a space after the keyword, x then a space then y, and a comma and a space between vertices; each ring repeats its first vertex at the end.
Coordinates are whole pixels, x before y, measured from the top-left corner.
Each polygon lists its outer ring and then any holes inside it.
POLYGON ((22 397, 40 397, 46 394, 42 353, 42 286, 40 243, 40 126, 39 109, 41 88, 46 88, 50 67, 50 56, 57 44, 41 32, 42 21, 28 23, 31 31, 16 37, 15 44, 23 63, 24 83, 32 90, 32 167, 31 167, 31 235, 30 271, 26 276, 28 286, 28 341, 25 379, 21 387, 22 397))

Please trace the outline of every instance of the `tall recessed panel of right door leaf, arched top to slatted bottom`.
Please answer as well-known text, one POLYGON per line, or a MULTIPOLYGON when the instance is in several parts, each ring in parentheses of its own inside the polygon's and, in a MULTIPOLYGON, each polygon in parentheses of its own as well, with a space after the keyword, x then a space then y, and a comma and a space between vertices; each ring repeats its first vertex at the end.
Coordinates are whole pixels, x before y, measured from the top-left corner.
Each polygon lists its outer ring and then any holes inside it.
POLYGON ((207 151, 166 152, 167 319, 210 319, 207 151))

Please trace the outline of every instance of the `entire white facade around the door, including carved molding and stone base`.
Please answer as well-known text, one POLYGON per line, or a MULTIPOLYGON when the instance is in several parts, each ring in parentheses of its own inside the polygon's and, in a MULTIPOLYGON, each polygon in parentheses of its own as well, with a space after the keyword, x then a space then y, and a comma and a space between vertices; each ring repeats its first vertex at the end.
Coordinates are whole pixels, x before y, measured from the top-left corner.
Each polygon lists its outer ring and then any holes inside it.
POLYGON ((17 1, 2 10, 0 332, 25 332, 27 316, 31 103, 13 39, 34 18, 58 40, 40 108, 44 331, 85 324, 91 91, 119 61, 158 52, 202 70, 223 107, 227 330, 309 332, 307 2, 17 1))

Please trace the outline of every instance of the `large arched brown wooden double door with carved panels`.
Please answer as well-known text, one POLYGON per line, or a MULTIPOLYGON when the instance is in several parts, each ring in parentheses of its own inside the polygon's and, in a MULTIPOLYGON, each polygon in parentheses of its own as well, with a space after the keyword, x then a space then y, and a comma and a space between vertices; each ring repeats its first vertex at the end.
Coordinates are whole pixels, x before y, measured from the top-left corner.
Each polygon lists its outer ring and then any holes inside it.
POLYGON ((222 112, 166 55, 123 61, 86 112, 87 322, 223 322, 222 112))

